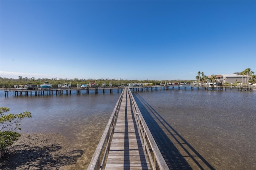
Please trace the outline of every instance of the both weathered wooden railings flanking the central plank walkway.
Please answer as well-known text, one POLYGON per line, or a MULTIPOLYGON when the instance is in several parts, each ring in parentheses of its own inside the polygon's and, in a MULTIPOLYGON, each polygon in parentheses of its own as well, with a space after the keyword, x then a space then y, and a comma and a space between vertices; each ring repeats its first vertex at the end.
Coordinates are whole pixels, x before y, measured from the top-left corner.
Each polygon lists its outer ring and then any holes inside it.
POLYGON ((116 106, 114 108, 114 111, 112 112, 110 119, 108 121, 108 124, 102 134, 102 137, 100 139, 100 142, 98 143, 98 146, 94 152, 94 155, 92 156, 92 160, 87 168, 87 170, 102 170, 104 169, 104 163, 106 160, 106 156, 108 155, 111 138, 114 133, 114 128, 116 124, 116 119, 118 117, 118 112, 120 108, 120 104, 122 101, 122 97, 124 95, 125 88, 127 88, 130 99, 132 101, 132 107, 134 114, 136 115, 136 121, 138 122, 138 128, 142 135, 143 142, 144 142, 144 149, 147 152, 148 158, 150 159, 150 164, 154 170, 168 170, 168 165, 166 164, 148 126, 146 125, 146 122, 144 121, 144 118, 142 117, 142 114, 140 113, 140 110, 138 109, 138 105, 136 101, 134 100, 134 97, 132 96, 132 92, 128 87, 124 87, 124 90, 122 91, 118 102, 116 103, 116 106), (103 148, 105 147, 104 153, 103 148))

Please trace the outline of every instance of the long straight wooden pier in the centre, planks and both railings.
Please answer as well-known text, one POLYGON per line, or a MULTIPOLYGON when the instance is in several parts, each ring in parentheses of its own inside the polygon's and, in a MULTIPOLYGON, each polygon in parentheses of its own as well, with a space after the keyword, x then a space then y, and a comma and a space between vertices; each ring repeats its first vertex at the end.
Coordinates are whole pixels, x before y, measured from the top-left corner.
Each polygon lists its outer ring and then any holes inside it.
POLYGON ((88 166, 88 170, 99 169, 169 169, 128 87, 124 87, 88 166))

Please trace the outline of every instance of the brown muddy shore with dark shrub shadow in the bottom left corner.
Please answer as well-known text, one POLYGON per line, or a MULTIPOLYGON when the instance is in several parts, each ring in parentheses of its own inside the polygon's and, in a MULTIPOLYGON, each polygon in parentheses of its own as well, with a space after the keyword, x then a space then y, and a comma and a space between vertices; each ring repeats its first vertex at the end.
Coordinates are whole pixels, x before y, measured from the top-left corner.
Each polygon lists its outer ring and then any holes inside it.
POLYGON ((0 162, 0 169, 84 169, 86 167, 79 164, 83 154, 82 150, 70 147, 61 134, 26 133, 6 150, 0 162))

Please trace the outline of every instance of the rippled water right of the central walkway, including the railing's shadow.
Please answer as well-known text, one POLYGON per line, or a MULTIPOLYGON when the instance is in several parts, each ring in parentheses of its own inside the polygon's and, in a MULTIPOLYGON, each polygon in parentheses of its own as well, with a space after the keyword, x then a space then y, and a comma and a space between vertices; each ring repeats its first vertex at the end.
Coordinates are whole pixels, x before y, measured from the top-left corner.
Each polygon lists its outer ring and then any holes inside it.
POLYGON ((134 98, 171 169, 256 168, 255 90, 168 90, 134 98))

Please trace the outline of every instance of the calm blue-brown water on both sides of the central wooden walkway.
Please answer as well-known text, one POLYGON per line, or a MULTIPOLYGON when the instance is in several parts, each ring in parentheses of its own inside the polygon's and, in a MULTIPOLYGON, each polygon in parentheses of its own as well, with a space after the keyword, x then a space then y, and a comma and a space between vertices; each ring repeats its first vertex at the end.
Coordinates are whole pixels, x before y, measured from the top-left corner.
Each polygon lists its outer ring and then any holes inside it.
MULTIPOLYGON (((98 143, 116 105, 120 93, 113 92, 4 97, 0 91, 0 106, 9 107, 10 113, 32 113, 21 122, 21 132, 57 132, 86 152, 90 148, 84 143, 98 143)), ((255 89, 133 94, 170 168, 256 168, 255 89)))

